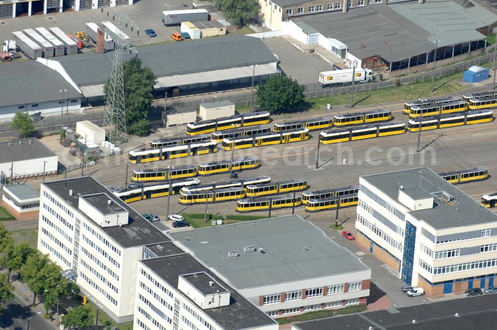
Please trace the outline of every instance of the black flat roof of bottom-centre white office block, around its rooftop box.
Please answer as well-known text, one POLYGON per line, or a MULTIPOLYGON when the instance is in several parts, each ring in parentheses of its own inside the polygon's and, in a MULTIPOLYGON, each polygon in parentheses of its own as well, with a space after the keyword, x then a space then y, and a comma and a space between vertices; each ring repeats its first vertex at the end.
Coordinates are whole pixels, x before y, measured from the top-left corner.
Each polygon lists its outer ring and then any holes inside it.
MULTIPOLYGON (((178 277, 183 274, 205 272, 209 276, 216 278, 215 275, 202 266, 194 257, 186 253, 141 260, 140 262, 176 289, 178 287, 178 277)), ((230 291, 230 305, 205 309, 203 312, 223 329, 242 330, 276 323, 276 321, 268 317, 264 312, 250 304, 236 290, 233 290, 217 278, 216 281, 230 291)), ((195 304, 192 300, 190 301, 195 304)))

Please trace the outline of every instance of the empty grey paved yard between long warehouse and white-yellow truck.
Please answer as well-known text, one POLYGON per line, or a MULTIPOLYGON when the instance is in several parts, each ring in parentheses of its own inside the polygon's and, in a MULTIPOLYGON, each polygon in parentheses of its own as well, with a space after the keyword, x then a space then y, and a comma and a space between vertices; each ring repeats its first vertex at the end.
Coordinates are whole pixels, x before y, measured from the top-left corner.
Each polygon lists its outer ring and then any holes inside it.
POLYGON ((303 53, 284 38, 263 39, 264 44, 278 56, 280 69, 299 83, 318 83, 322 71, 331 70, 331 64, 316 54, 303 53))

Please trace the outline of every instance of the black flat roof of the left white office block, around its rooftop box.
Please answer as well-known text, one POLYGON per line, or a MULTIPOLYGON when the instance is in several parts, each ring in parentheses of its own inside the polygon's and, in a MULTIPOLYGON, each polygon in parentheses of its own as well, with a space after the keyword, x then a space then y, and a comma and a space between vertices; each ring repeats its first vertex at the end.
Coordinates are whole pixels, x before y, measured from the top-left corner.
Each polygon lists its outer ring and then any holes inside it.
MULTIPOLYGON (((73 208, 78 209, 79 197, 95 193, 107 193, 109 190, 100 182, 89 176, 73 179, 58 180, 42 183, 51 189, 59 198, 66 201, 73 208), (69 190, 73 190, 73 195, 69 195, 69 190)), ((166 237, 156 227, 152 226, 140 214, 123 201, 113 199, 121 207, 129 211, 128 225, 122 227, 100 227, 112 240, 123 248, 137 247, 154 243, 164 242, 166 237)), ((93 221, 86 217, 88 221, 93 221)), ((94 223, 97 225, 96 223, 94 223)))

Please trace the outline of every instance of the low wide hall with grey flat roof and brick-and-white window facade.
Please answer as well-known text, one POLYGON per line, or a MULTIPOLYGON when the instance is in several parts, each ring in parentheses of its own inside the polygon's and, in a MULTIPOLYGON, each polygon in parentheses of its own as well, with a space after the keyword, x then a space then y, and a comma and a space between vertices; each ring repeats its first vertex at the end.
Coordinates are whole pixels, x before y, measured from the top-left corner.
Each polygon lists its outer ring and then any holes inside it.
POLYGON ((169 234, 269 316, 365 305, 371 269, 299 216, 169 234))

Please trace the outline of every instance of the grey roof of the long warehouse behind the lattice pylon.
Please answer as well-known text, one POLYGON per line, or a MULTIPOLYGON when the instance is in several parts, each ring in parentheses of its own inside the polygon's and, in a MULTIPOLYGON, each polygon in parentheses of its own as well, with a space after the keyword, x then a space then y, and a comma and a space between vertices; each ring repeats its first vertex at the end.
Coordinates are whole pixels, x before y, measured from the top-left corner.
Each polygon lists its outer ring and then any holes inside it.
MULTIPOLYGON (((233 36, 137 47, 143 66, 156 77, 230 69, 276 62, 273 53, 254 37, 233 36)), ((58 61, 78 85, 105 83, 110 76, 112 52, 61 56, 58 61)), ((131 55, 124 55, 128 57, 131 55)), ((250 76, 251 76, 250 72, 250 76)))

